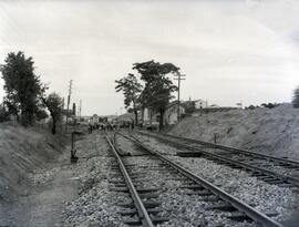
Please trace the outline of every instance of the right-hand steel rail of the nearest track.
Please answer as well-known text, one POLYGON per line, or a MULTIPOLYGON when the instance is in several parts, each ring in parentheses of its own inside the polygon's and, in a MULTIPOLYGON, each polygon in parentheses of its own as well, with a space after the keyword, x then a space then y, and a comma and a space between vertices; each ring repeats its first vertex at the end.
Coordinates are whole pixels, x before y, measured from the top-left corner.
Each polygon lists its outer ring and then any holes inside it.
POLYGON ((157 157, 159 157, 162 161, 164 161, 165 163, 167 163, 168 165, 171 165, 172 167, 177 169, 183 175, 187 176, 188 178, 193 179, 197 184, 199 184, 199 185, 204 186, 205 188, 209 189, 210 192, 213 192, 215 195, 219 196, 225 202, 231 204, 238 210, 245 213, 252 220, 261 224, 265 227, 285 227, 282 224, 271 219, 267 215, 265 215, 265 214, 258 211, 257 209, 255 209, 254 207, 245 204, 244 202, 236 198, 235 196, 229 195, 228 193, 226 193, 221 188, 219 188, 219 187, 213 185, 212 183, 207 182, 206 179, 195 175, 194 173, 189 172, 188 169, 186 169, 185 167, 178 165, 177 163, 174 163, 168 157, 159 154, 158 152, 152 151, 151 148, 145 146, 142 142, 140 142, 135 136, 132 135, 132 137, 132 137, 126 136, 126 135, 123 135, 123 136, 125 136, 128 140, 135 142, 144 151, 147 151, 148 153, 156 155, 157 157))

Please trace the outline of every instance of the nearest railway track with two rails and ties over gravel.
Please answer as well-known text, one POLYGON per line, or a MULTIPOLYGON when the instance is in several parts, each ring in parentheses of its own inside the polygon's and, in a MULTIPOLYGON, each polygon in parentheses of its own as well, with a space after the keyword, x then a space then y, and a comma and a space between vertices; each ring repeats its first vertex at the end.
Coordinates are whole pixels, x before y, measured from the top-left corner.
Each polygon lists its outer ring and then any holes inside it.
MULTIPOLYGON (((194 210, 199 211, 199 214, 188 220, 194 226, 283 226, 270 216, 259 213, 217 186, 194 175, 168 157, 152 151, 136 137, 130 137, 124 134, 121 134, 121 136, 134 143, 138 151, 142 152, 141 154, 135 152, 136 155, 130 152, 124 153, 123 149, 116 146, 115 140, 106 136, 117 163, 117 166, 115 165, 114 168, 120 169, 123 176, 123 180, 117 180, 115 184, 117 184, 120 190, 128 192, 133 200, 133 203, 126 205, 128 209, 124 210, 122 215, 137 216, 133 220, 125 221, 126 225, 152 227, 157 224, 163 226, 163 224, 172 221, 176 217, 169 214, 173 214, 172 209, 175 209, 177 206, 175 203, 179 203, 179 197, 175 198, 174 204, 171 203, 168 209, 165 206, 165 197, 168 196, 169 199, 173 194, 177 194, 184 199, 186 197, 189 198, 186 205, 189 210, 196 204, 194 210), (118 149, 122 152, 120 153, 118 149), (212 217, 202 217, 203 214, 206 216, 210 215, 212 217), (199 216, 200 219, 196 219, 199 216), (207 221, 219 217, 220 220, 218 223, 210 224, 207 221)), ((182 213, 179 206, 183 205, 178 204, 178 211, 182 213)), ((179 216, 182 214, 177 213, 176 215, 179 216)), ((179 225, 183 225, 183 223, 178 223, 179 225)))

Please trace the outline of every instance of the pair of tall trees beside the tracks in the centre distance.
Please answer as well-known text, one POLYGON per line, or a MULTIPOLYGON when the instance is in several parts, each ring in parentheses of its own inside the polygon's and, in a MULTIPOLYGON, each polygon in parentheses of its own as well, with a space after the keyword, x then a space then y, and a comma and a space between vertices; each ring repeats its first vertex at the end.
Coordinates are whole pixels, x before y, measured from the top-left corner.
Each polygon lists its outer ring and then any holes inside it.
POLYGON ((123 92, 125 107, 131 107, 136 124, 138 124, 137 111, 148 107, 159 113, 159 130, 162 130, 166 106, 174 97, 172 93, 177 91, 177 86, 173 84, 168 75, 178 73, 179 68, 172 63, 152 60, 134 63, 132 69, 137 71, 141 81, 136 75, 128 73, 115 81, 115 90, 123 92))

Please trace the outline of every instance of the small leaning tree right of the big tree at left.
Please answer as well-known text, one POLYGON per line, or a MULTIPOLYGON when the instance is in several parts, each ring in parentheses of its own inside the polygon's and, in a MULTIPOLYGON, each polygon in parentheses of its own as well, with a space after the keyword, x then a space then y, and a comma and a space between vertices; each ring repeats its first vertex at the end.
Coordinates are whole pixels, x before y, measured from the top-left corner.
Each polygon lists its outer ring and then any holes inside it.
POLYGON ((52 117, 52 134, 56 133, 56 124, 62 120, 62 112, 63 112, 63 99, 56 94, 51 93, 48 97, 43 97, 41 95, 41 100, 47 106, 52 117))

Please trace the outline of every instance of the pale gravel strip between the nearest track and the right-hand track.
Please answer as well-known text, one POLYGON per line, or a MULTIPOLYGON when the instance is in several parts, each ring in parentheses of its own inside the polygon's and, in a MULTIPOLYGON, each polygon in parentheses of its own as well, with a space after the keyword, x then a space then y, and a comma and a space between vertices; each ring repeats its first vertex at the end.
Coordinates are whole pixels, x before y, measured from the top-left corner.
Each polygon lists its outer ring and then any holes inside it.
MULTIPOLYGON (((167 151, 167 154, 177 152, 171 146, 161 145, 154 138, 138 136, 138 138, 142 137, 145 137, 143 142, 155 148, 155 151, 164 149, 163 152, 165 153, 165 151, 167 151), (165 146, 167 146, 167 148, 165 146)), ((279 213, 279 215, 275 217, 278 220, 288 219, 292 211, 296 211, 296 209, 299 208, 299 197, 296 190, 269 185, 256 177, 251 177, 243 171, 218 165, 205 158, 183 158, 174 155, 171 155, 169 158, 184 165, 193 173, 213 184, 219 185, 229 194, 254 206, 260 211, 279 213)))

